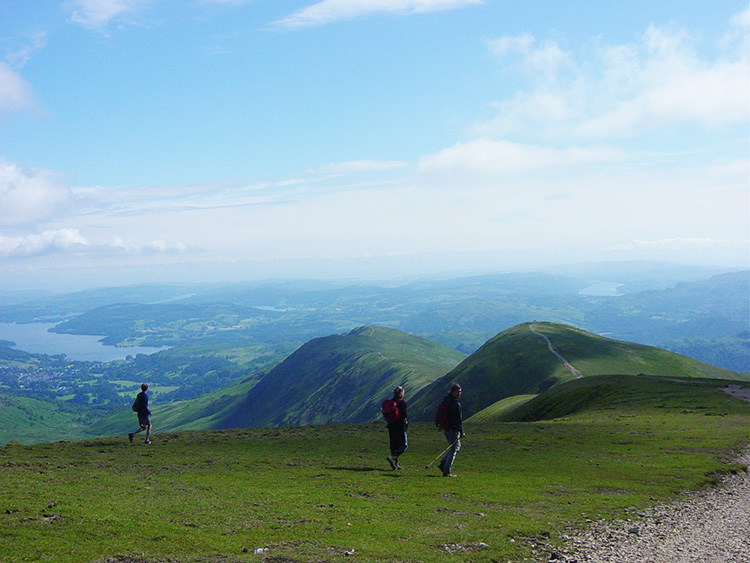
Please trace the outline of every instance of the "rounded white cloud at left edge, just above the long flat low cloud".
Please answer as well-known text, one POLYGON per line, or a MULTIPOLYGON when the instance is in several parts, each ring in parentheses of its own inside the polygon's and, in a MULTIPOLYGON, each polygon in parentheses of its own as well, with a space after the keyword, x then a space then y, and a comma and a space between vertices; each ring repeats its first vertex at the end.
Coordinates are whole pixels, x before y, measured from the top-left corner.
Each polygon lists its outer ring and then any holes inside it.
POLYGON ((0 225, 47 219, 63 211, 70 196, 70 189, 53 172, 0 158, 0 225))

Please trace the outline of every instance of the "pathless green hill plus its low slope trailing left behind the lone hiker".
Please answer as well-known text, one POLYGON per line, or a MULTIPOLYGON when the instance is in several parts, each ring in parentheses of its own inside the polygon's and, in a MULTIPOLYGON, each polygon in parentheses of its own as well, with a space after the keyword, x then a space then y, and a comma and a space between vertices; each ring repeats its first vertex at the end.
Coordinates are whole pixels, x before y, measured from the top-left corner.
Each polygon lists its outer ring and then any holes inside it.
MULTIPOLYGON (((413 394, 454 368, 461 352, 395 329, 360 327, 315 338, 275 367, 226 389, 167 405, 155 404, 159 432, 370 422, 396 385, 413 394)), ((126 411, 92 427, 124 435, 126 411)))

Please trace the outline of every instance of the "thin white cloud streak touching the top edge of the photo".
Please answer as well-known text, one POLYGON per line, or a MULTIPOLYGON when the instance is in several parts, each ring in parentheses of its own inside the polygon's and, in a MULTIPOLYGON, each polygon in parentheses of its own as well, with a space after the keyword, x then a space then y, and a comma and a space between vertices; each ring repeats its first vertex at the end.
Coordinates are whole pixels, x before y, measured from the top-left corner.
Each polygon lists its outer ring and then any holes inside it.
POLYGON ((323 0, 279 20, 277 25, 300 28, 351 20, 376 13, 397 15, 452 10, 484 0, 323 0))

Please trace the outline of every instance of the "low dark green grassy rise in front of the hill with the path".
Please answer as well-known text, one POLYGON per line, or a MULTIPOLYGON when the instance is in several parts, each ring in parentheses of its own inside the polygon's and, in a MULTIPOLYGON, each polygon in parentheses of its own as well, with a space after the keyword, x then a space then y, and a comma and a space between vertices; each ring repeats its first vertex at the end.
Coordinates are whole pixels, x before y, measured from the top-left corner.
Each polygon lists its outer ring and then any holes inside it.
POLYGON ((737 382, 648 375, 595 375, 561 383, 511 408, 500 408, 503 403, 500 401, 477 413, 472 421, 531 422, 595 411, 612 411, 621 415, 649 409, 712 415, 730 408, 729 403, 742 402, 742 399, 724 392, 730 385, 737 385, 737 382))

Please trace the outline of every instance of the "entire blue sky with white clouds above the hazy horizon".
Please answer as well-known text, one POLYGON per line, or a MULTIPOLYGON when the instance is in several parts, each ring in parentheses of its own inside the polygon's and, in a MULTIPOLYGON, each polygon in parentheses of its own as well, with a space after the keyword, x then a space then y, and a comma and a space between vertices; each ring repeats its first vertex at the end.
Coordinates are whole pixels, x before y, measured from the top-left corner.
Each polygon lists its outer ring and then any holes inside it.
POLYGON ((750 267, 746 1, 0 0, 0 289, 750 267))

